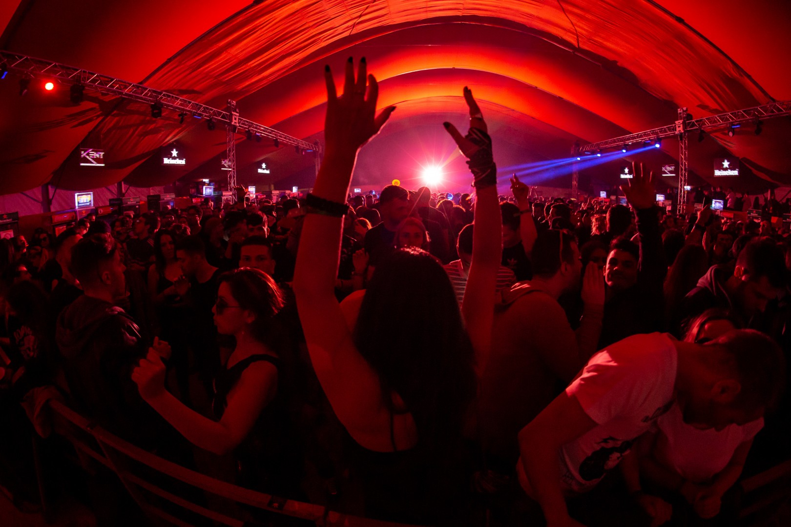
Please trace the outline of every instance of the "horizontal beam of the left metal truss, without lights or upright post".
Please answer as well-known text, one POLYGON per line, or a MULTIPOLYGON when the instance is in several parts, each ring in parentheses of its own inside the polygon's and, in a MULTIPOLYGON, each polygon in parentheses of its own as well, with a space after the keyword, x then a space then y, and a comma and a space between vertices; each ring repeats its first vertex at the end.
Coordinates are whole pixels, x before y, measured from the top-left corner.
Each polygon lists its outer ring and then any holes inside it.
POLYGON ((184 112, 203 119, 213 119, 217 122, 225 122, 234 127, 234 132, 250 130, 252 134, 277 139, 278 143, 299 146, 305 150, 315 150, 316 145, 302 141, 297 137, 291 137, 263 126, 258 122, 249 119, 239 119, 238 113, 234 115, 228 110, 219 110, 206 104, 201 104, 194 100, 184 99, 184 97, 163 92, 134 82, 124 81, 123 79, 108 77, 93 71, 81 70, 73 66, 66 66, 59 62, 51 62, 40 58, 28 57, 9 51, 0 51, 0 63, 6 65, 9 71, 22 73, 28 78, 40 78, 47 81, 59 82, 60 84, 82 85, 86 89, 100 92, 104 95, 120 96, 124 99, 134 100, 140 103, 161 104, 163 108, 169 108, 184 112))

